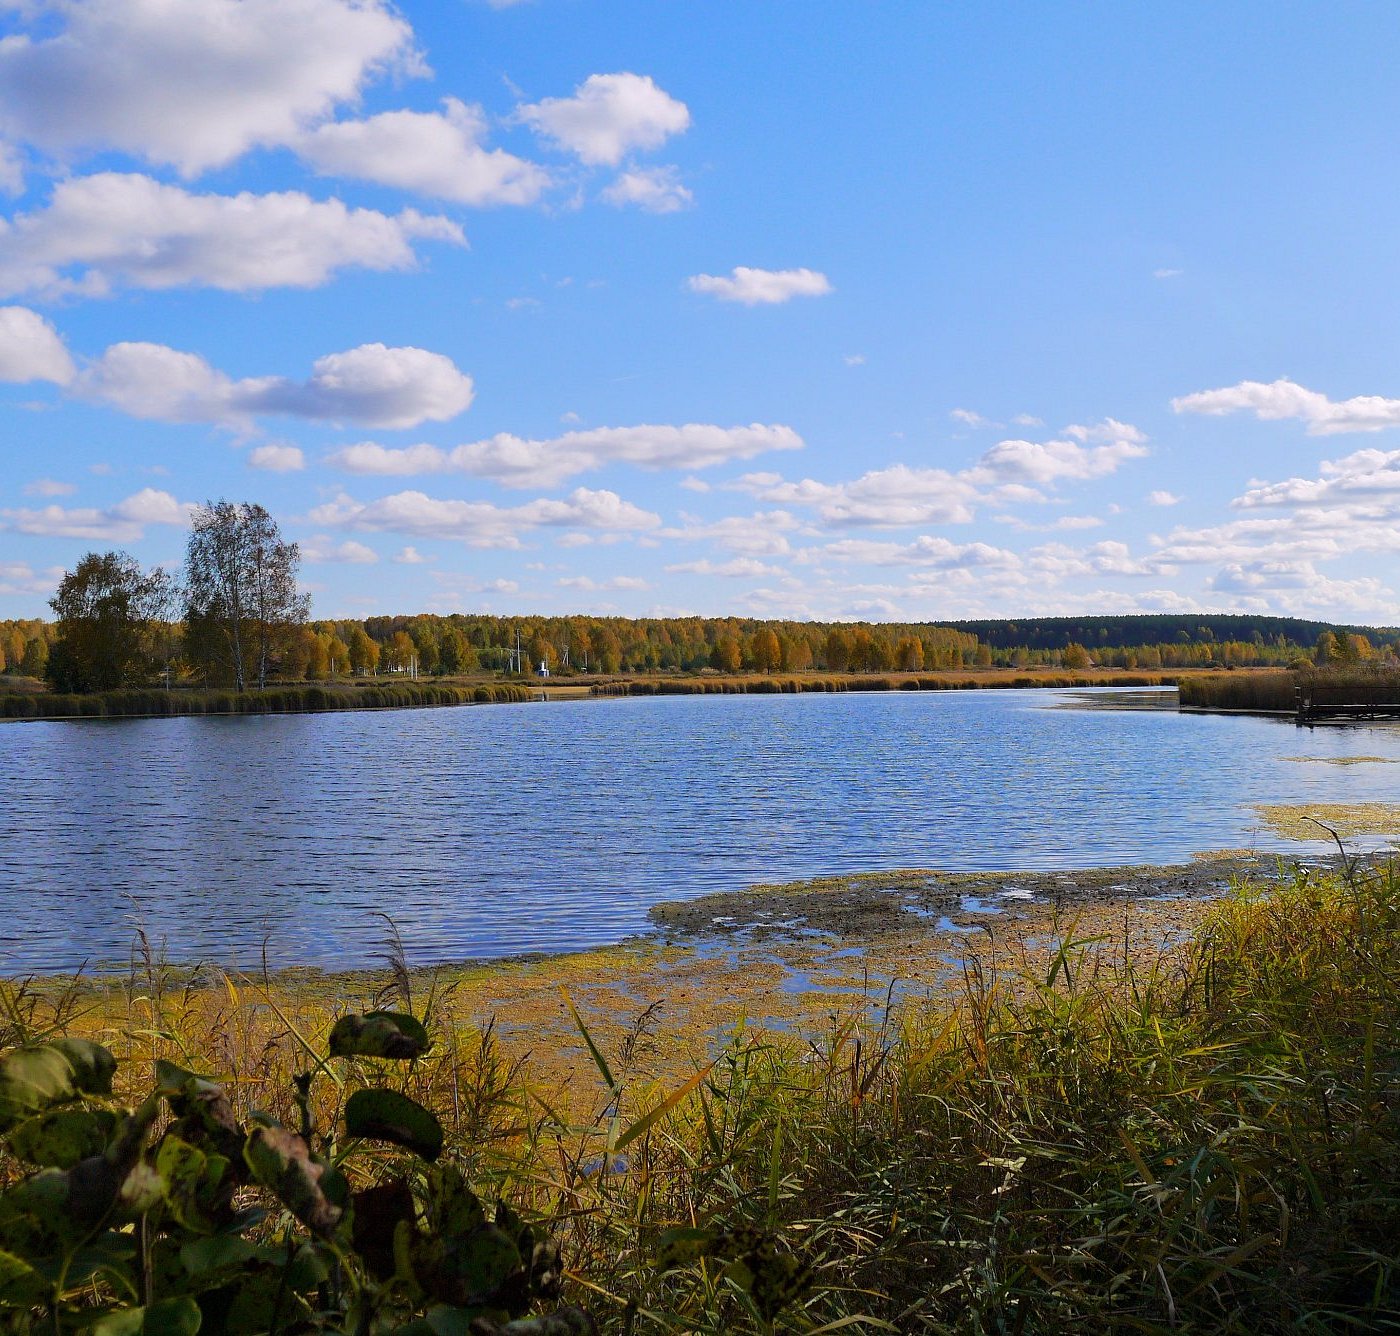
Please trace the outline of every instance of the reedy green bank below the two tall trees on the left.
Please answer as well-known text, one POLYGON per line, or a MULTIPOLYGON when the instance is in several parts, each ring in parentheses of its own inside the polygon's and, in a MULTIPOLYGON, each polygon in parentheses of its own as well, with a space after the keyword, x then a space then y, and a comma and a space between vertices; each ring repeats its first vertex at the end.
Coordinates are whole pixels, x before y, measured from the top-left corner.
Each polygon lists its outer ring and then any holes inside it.
POLYGON ((419 706, 500 704, 533 700, 522 682, 455 686, 438 682, 393 682, 336 686, 274 686, 232 692, 176 688, 160 690, 0 693, 0 718, 133 718, 171 714, 300 714, 322 710, 393 710, 419 706))

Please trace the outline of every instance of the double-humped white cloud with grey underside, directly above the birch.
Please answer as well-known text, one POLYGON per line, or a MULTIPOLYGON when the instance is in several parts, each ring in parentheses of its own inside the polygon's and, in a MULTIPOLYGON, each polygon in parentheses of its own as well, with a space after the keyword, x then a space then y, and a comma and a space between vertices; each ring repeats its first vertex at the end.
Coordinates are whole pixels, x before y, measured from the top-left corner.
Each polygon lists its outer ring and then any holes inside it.
POLYGON ((449 357, 382 343, 321 357, 305 381, 273 375, 235 381, 195 353, 160 343, 113 343, 73 388, 133 417, 225 426, 280 415, 402 429, 455 417, 473 395, 472 378, 449 357))

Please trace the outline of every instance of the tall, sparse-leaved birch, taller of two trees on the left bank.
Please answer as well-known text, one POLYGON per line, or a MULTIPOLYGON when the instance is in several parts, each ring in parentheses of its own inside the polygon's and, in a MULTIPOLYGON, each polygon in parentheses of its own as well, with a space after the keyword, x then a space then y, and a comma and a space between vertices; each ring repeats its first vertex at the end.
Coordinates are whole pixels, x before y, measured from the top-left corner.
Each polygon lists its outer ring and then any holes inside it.
POLYGON ((211 501, 195 511, 185 555, 190 658, 245 690, 267 685, 288 636, 307 620, 297 592, 301 550, 262 506, 211 501))

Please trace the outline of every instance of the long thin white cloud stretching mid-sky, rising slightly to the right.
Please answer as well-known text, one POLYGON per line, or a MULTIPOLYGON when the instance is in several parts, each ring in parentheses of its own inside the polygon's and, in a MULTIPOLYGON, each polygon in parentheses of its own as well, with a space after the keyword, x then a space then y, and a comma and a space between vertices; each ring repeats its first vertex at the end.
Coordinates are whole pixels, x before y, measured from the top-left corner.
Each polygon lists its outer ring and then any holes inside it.
POLYGON ((731 459, 750 459, 769 450, 801 448, 802 438, 791 427, 778 424, 717 427, 686 423, 680 427, 592 427, 543 441, 501 433, 455 450, 435 445, 391 450, 367 441, 336 451, 326 462, 349 473, 407 476, 458 472, 490 478, 507 487, 553 487, 577 473, 612 464, 644 469, 703 469, 731 459))

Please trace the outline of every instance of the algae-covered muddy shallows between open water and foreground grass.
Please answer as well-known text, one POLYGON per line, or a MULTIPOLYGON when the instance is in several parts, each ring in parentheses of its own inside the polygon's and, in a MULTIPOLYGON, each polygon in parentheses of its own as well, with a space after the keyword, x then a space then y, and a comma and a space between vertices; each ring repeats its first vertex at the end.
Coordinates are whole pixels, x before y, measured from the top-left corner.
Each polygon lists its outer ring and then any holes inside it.
MULTIPOLYGON (((568 1000, 605 1052, 627 1046, 637 1050, 638 1073, 669 1078, 694 1070, 736 1028, 792 1036, 892 1001, 937 1004, 955 996, 967 970, 1007 970, 1009 979, 1043 965, 1070 938, 1110 961, 1161 959, 1242 881, 1267 888, 1287 884, 1299 868, 1338 867, 1336 853, 1225 850, 1177 865, 906 870, 757 885, 658 905, 654 935, 584 951, 410 966, 398 987, 435 997, 441 1022, 490 1032, 512 1060, 529 1059, 560 1088, 592 1070, 568 1000), (665 1043, 643 1042, 658 1034, 665 1043)), ((311 1017, 372 1004, 396 979, 391 965, 291 966, 263 976, 158 961, 146 969, 139 958, 134 972, 28 977, 46 996, 76 987, 98 1028, 137 994, 181 991, 189 1006, 217 1008, 237 991, 260 997, 269 1015, 311 1017)))

